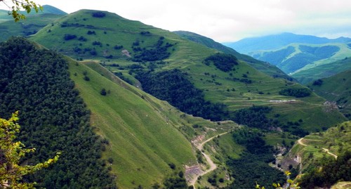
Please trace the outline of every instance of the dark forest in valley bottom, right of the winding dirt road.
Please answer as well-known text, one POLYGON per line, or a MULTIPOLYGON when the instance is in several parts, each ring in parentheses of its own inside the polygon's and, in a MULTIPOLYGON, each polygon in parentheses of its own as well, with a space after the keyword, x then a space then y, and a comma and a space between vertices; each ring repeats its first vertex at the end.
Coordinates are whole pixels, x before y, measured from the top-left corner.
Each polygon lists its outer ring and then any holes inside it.
POLYGON ((256 182, 265 188, 273 188, 272 183, 284 183, 286 177, 278 169, 268 165, 274 161, 273 148, 266 145, 262 134, 258 130, 240 129, 233 133, 234 141, 244 145, 246 150, 239 159, 229 159, 231 175, 234 183, 227 188, 255 188, 256 182))

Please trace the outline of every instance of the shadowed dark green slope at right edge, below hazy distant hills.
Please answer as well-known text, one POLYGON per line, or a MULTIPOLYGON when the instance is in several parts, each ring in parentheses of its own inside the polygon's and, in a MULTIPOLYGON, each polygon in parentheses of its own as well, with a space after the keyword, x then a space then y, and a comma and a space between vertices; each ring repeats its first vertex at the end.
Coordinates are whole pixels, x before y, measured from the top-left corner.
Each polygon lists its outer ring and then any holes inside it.
POLYGON ((351 118, 351 70, 335 74, 332 77, 320 79, 321 84, 312 82, 310 88, 319 96, 326 98, 338 105, 342 112, 349 119, 351 118))

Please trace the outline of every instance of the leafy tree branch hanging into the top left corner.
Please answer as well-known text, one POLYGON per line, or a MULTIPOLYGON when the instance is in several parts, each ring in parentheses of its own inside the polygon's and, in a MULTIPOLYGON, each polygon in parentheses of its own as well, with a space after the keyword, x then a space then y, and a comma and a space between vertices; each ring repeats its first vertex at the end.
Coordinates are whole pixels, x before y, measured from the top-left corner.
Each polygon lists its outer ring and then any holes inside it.
POLYGON ((20 13, 20 10, 22 9, 24 9, 27 13, 30 13, 32 9, 34 9, 36 13, 38 13, 39 10, 43 11, 43 7, 39 4, 36 4, 34 1, 11 0, 11 5, 7 4, 4 0, 0 0, 0 2, 3 2, 9 8, 8 14, 12 15, 15 22, 25 19, 25 15, 20 13))

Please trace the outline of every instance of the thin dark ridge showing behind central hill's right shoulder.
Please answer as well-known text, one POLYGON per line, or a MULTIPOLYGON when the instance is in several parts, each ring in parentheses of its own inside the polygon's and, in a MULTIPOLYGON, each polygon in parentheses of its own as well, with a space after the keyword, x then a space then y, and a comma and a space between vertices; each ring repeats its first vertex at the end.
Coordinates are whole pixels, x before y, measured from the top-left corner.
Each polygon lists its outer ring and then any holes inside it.
POLYGON ((213 39, 210 39, 208 37, 201 36, 199 34, 195 34, 193 32, 186 32, 186 31, 176 31, 176 34, 180 35, 181 37, 184 37, 185 39, 189 39, 190 41, 197 42, 198 44, 203 44, 204 46, 207 46, 209 48, 214 48, 218 51, 221 51, 223 53, 231 54, 239 60, 243 60, 252 67, 256 68, 260 72, 263 72, 265 74, 268 74, 272 77, 282 77, 285 79, 289 79, 290 77, 287 76, 282 70, 279 70, 278 67, 272 66, 268 63, 264 63, 260 60, 256 60, 255 58, 252 58, 251 56, 246 56, 244 54, 240 54, 237 51, 235 51, 233 48, 229 48, 227 46, 224 46, 223 44, 220 44, 216 41, 213 41, 213 39))

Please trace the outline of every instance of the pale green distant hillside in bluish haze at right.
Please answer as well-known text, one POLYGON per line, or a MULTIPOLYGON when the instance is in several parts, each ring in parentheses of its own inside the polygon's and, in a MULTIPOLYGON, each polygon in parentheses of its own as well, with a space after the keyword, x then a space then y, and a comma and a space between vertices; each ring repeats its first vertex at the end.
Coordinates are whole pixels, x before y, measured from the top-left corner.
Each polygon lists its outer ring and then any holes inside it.
POLYGON ((291 76, 299 82, 307 84, 314 79, 328 77, 331 74, 347 70, 350 65, 345 65, 345 61, 343 63, 336 62, 350 57, 350 55, 351 49, 347 44, 342 43, 289 44, 289 46, 284 46, 276 51, 259 51, 256 53, 256 58, 277 65, 284 72, 291 73, 291 76), (317 50, 307 51, 303 46, 317 50))

